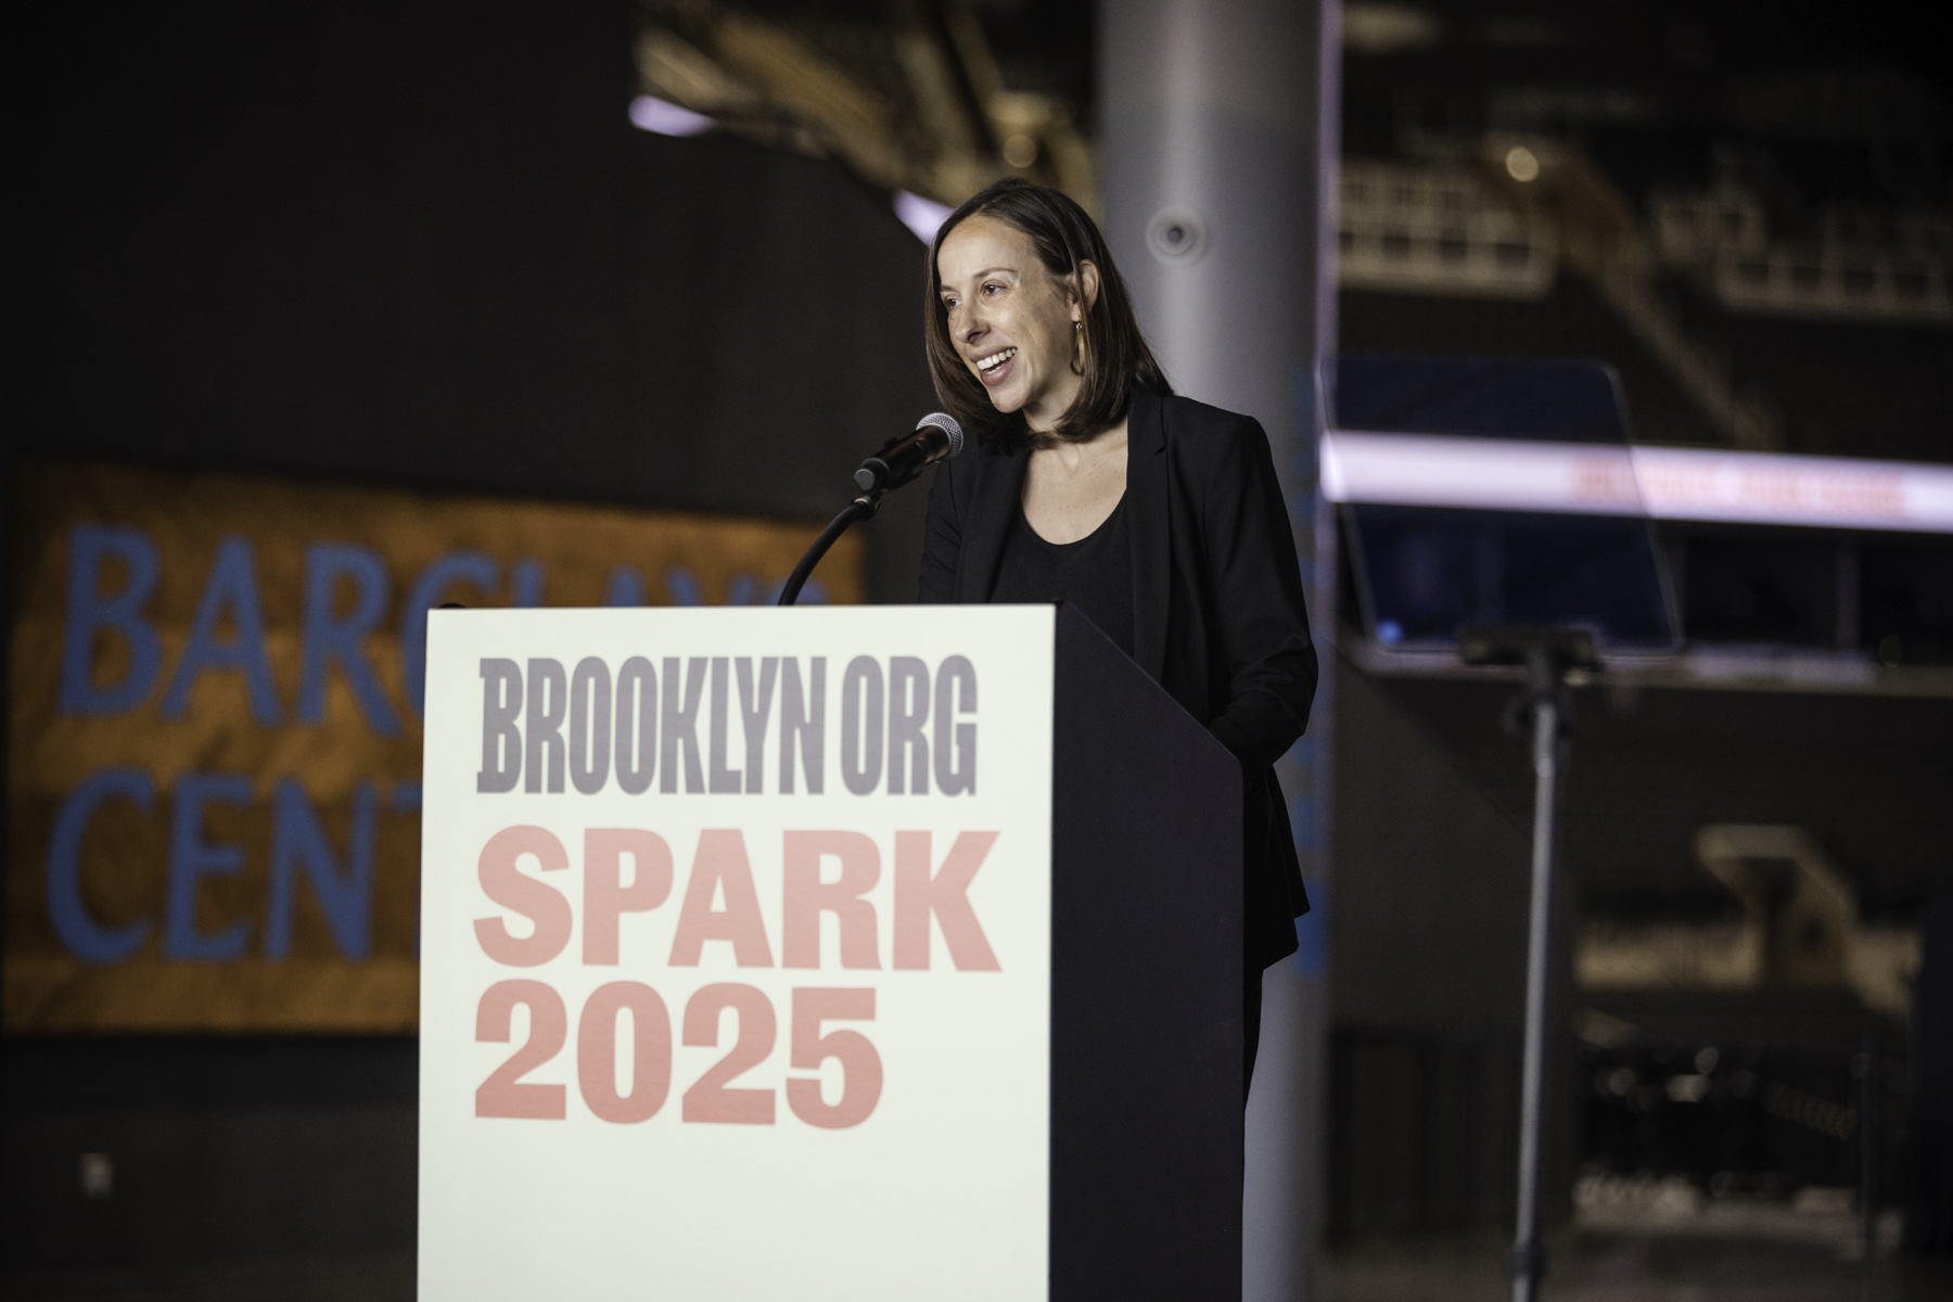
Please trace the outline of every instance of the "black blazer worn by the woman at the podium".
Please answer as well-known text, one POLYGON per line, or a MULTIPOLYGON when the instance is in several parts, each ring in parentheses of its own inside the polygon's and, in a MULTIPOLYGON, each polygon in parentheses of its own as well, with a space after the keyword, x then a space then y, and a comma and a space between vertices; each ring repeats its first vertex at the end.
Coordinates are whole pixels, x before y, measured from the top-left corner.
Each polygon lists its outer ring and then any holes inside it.
MULTIPOLYGON (((1295 919, 1309 912, 1271 769, 1316 693, 1295 535, 1267 435, 1248 416, 1139 388, 1127 439, 1133 660, 1240 759, 1242 927, 1260 970, 1295 953, 1295 919)), ((990 599, 1027 463, 1021 447, 978 447, 937 467, 922 601, 990 599)))

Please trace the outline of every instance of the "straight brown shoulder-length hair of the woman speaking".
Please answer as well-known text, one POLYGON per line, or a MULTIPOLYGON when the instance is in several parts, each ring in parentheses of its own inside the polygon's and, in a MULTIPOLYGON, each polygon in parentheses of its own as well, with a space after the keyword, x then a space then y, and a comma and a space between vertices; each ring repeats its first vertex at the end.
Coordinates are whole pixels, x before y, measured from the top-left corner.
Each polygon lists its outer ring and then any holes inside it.
POLYGON ((994 217, 1029 236, 1037 260, 1059 279, 1076 275, 1080 262, 1092 262, 1100 273, 1098 299, 1086 308, 1082 322, 1084 385, 1049 439, 1074 443, 1117 426, 1125 420, 1133 385, 1160 394, 1174 392, 1160 363, 1152 359, 1152 349, 1146 347, 1146 336, 1139 332, 1133 297, 1111 262, 1111 250, 1105 248, 1100 228, 1060 191, 1008 176, 951 213, 935 232, 935 244, 930 246, 930 299, 924 305, 930 377, 935 381, 935 396, 965 429, 975 431, 980 443, 1002 447, 1035 441, 1023 412, 998 412, 990 406, 982 381, 969 373, 949 340, 949 310, 941 299, 943 273, 935 256, 949 232, 976 215, 994 217))

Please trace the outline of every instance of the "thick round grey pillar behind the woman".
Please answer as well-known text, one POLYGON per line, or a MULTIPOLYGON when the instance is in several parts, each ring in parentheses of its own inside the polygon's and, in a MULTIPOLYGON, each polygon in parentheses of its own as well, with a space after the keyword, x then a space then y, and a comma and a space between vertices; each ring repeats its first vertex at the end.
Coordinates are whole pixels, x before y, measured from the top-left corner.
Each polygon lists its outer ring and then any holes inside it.
MULTIPOLYGON (((1174 388, 1267 429, 1310 580, 1322 420, 1312 377, 1336 344, 1340 62, 1340 0, 1100 0, 1105 234, 1174 388)), ((1322 599, 1312 609, 1326 673, 1322 599)), ((1297 837, 1318 896, 1326 763, 1328 748, 1310 740, 1281 765, 1289 798, 1309 806, 1297 808, 1297 837)), ((1248 1302, 1314 1292, 1324 972, 1316 949, 1264 976, 1242 1204, 1248 1302)))

